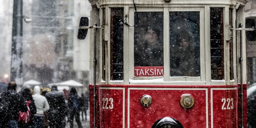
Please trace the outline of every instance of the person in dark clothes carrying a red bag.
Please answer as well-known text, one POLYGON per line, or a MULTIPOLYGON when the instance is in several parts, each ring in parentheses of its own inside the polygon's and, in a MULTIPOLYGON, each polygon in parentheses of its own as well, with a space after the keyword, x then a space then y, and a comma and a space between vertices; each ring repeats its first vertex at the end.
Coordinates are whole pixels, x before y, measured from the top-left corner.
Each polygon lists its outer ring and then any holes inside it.
POLYGON ((30 119, 28 123, 18 122, 19 128, 33 128, 34 127, 34 114, 36 113, 36 106, 29 88, 25 88, 21 95, 24 97, 26 103, 29 102, 30 119))

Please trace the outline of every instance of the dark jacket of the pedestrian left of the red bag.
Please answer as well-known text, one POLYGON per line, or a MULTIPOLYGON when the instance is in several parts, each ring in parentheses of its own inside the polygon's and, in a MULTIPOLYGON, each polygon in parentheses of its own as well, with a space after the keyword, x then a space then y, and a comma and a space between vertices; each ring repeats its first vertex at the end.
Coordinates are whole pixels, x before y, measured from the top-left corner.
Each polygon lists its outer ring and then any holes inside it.
POLYGON ((3 100, 8 102, 8 114, 4 115, 7 120, 18 120, 19 111, 26 112, 28 108, 26 106, 25 99, 22 95, 16 93, 15 90, 8 90, 1 94, 3 100))

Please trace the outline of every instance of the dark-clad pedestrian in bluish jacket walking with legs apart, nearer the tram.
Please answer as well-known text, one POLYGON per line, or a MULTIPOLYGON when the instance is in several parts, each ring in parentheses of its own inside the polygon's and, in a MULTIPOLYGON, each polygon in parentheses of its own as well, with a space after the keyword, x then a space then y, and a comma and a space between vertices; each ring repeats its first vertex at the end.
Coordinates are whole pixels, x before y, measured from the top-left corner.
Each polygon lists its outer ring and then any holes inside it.
POLYGON ((73 128, 74 118, 76 119, 78 128, 82 128, 80 120, 81 105, 81 97, 77 95, 76 88, 72 87, 70 89, 70 96, 68 97, 68 107, 70 110, 70 128, 73 128))

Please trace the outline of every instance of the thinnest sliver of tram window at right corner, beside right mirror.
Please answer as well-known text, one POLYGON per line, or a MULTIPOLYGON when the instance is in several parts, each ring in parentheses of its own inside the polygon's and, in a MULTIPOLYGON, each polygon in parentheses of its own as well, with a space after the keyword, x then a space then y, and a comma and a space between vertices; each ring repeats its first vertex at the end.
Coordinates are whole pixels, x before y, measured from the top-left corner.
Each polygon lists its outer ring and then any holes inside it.
MULTIPOLYGON (((233 9, 229 9, 229 25, 231 28, 233 28, 233 9)), ((231 31, 231 34, 233 35, 233 31, 231 31)), ((229 41, 229 59, 230 59, 230 80, 234 79, 234 67, 233 67, 233 38, 229 41)))

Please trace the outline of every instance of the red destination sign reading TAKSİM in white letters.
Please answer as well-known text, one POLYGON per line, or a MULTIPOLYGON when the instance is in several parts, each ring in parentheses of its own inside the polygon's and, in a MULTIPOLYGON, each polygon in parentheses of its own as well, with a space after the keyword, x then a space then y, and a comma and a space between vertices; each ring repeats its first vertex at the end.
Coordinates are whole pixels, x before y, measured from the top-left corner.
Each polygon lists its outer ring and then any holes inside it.
POLYGON ((137 66, 134 67, 135 77, 163 76, 163 66, 137 66))

